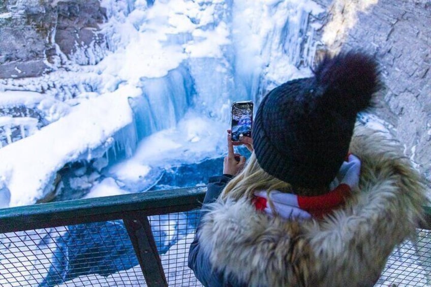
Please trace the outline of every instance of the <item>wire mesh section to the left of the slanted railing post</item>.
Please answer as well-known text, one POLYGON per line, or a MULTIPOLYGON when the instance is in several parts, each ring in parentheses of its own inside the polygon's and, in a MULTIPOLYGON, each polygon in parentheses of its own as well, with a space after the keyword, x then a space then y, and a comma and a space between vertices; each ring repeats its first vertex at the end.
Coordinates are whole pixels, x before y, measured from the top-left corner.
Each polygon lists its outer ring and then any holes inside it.
POLYGON ((121 220, 0 235, 1 286, 136 286, 140 269, 121 220), (94 275, 96 274, 96 275, 94 275))

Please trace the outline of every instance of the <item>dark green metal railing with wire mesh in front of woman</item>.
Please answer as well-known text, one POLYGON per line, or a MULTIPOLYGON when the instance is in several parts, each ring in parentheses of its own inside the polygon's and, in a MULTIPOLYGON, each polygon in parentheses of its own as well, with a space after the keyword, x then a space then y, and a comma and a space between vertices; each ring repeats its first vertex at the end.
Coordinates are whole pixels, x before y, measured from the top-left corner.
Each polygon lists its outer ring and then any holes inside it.
MULTIPOLYGON (((200 286, 187 258, 205 192, 181 188, 0 209, 0 285, 200 286)), ((393 251, 377 286, 429 284, 431 233, 423 228, 415 243, 393 251)))

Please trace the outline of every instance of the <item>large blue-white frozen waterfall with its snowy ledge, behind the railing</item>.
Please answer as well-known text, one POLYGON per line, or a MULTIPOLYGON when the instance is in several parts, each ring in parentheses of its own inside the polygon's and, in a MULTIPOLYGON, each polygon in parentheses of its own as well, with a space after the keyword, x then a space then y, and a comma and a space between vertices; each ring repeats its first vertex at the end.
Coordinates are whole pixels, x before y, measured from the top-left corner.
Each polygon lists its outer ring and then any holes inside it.
POLYGON ((1 182, 10 190, 10 206, 45 197, 56 172, 73 161, 103 157, 112 165, 136 157, 142 165, 149 158, 152 165, 169 165, 220 156, 233 101, 259 103, 274 86, 310 75, 318 44, 318 24, 310 19, 323 12, 295 0, 101 5, 108 50, 92 55, 101 59, 95 65, 71 63, 41 78, 0 81, 0 90, 38 91, 51 101, 46 127, 0 149, 8 158, 0 172, 11 174, 1 182), (69 109, 55 110, 58 102, 69 109), (139 157, 142 139, 154 150, 139 157), (160 145, 165 142, 169 148, 160 145))

